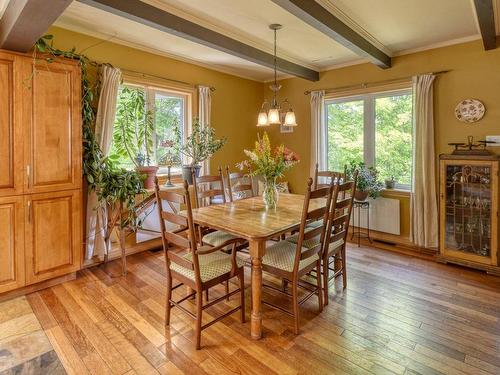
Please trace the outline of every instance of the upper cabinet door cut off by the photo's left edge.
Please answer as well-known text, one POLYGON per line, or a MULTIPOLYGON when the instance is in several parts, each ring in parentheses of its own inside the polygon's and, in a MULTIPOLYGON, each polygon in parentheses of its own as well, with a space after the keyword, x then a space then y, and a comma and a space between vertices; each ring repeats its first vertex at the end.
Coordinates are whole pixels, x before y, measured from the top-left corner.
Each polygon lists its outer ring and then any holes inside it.
POLYGON ((23 192, 20 61, 0 52, 0 197, 23 192))

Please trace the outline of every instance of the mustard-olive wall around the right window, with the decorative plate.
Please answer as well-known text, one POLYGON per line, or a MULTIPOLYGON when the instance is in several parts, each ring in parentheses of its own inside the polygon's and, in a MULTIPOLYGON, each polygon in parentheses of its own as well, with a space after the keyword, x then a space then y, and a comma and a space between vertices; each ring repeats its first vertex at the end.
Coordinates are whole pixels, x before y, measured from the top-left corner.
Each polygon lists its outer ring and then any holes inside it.
MULTIPOLYGON (((486 135, 500 135, 500 49, 483 50, 481 41, 427 50, 393 58, 393 67, 382 70, 373 64, 360 64, 322 72, 319 82, 300 78, 281 81, 280 97, 287 97, 293 104, 299 126, 291 134, 280 134, 279 129, 270 128, 274 142, 283 142, 301 156, 300 166, 289 173, 294 191, 304 190, 309 177, 310 163, 310 105, 309 89, 328 89, 365 82, 378 82, 412 76, 419 73, 450 70, 435 81, 435 132, 436 154, 449 153, 448 142, 465 141, 468 135, 484 139, 486 135), (475 124, 464 124, 455 119, 454 109, 459 101, 476 98, 484 102, 486 114, 475 124)), ((268 85, 264 95, 271 96, 268 85)), ((499 148, 492 148, 500 151, 499 148)), ((401 200, 401 231, 409 235, 409 198, 401 200)))

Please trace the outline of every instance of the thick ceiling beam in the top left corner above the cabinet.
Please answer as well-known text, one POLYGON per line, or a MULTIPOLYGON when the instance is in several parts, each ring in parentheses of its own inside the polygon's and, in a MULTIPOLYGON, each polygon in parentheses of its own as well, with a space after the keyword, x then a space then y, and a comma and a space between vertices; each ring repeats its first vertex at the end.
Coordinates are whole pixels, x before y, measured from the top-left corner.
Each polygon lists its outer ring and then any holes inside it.
POLYGON ((0 48, 27 52, 73 0, 11 0, 0 20, 0 48))

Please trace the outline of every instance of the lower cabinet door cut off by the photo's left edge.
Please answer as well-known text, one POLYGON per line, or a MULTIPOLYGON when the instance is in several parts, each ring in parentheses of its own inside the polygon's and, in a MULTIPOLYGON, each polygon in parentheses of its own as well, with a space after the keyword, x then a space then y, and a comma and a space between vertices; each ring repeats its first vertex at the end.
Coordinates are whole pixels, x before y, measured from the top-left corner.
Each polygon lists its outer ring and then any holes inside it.
POLYGON ((0 293, 24 286, 23 197, 0 198, 0 293))

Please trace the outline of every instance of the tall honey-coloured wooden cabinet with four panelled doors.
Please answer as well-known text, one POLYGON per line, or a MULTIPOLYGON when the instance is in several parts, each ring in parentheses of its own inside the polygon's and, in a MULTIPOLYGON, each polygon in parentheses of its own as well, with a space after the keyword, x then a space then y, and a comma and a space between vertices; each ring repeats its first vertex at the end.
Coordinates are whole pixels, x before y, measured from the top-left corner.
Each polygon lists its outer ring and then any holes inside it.
POLYGON ((0 50, 0 294, 80 268, 80 74, 0 50))

